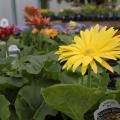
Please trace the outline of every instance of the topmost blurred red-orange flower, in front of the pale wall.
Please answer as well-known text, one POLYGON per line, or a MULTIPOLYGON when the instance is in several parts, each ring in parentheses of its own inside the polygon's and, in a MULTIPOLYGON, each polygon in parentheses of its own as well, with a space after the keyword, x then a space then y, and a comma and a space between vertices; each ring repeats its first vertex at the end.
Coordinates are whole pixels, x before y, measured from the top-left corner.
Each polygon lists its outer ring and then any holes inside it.
POLYGON ((33 6, 29 7, 25 7, 24 9, 25 15, 27 16, 39 16, 40 15, 40 11, 38 8, 35 8, 33 6))

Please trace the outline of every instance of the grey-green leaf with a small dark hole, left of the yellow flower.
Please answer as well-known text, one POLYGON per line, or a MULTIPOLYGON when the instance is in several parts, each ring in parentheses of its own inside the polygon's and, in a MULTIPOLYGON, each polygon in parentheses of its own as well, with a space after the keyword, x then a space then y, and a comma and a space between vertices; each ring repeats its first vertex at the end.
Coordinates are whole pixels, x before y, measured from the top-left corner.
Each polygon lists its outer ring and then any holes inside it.
POLYGON ((19 71, 25 70, 30 74, 39 74, 44 67, 46 60, 46 55, 26 56, 21 58, 20 61, 13 66, 13 69, 19 71))

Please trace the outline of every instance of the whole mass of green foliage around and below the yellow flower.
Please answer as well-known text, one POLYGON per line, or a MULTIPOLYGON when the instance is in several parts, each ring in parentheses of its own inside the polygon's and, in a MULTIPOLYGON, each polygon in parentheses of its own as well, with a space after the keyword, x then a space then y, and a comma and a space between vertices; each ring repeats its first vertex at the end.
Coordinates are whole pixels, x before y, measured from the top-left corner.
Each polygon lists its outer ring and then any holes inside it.
MULTIPOLYGON (((79 69, 75 73, 62 70, 54 53, 59 45, 71 43, 73 36, 59 33, 53 40, 31 31, 7 41, 8 46, 20 48, 19 59, 6 58, 0 45, 1 120, 92 120, 91 109, 97 103, 105 98, 119 100, 120 83, 118 91, 106 92, 109 75, 105 70, 99 68, 99 75, 92 75, 92 88, 86 87, 87 74, 83 78, 79 69)), ((119 73, 119 64, 115 68, 119 73)))

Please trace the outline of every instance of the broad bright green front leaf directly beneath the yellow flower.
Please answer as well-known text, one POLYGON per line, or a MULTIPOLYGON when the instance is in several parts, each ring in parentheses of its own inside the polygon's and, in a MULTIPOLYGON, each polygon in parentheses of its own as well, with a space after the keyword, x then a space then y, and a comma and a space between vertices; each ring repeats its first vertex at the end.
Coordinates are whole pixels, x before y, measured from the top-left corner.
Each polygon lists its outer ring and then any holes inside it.
POLYGON ((84 120, 84 114, 104 96, 99 89, 67 84, 42 89, 42 94, 49 106, 73 120, 84 120))

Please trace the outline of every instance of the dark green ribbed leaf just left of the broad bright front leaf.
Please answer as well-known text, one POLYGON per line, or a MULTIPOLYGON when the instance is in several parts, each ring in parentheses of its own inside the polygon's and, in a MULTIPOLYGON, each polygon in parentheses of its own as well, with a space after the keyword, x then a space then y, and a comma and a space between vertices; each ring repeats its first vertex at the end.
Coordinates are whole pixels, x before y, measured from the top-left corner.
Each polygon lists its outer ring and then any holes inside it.
POLYGON ((18 93, 15 107, 20 120, 31 120, 35 110, 42 104, 39 91, 38 86, 25 86, 18 93))

